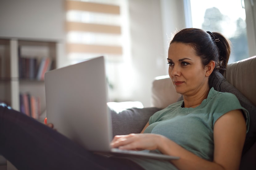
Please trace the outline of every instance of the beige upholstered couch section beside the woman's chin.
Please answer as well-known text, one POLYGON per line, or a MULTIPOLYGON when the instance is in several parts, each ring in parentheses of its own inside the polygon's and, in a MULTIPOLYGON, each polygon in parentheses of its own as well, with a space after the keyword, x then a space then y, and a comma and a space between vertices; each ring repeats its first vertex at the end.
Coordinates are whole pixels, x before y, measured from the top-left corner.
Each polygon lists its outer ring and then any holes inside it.
POLYGON ((151 106, 166 108, 178 101, 181 95, 176 93, 168 75, 155 77, 151 91, 151 106))

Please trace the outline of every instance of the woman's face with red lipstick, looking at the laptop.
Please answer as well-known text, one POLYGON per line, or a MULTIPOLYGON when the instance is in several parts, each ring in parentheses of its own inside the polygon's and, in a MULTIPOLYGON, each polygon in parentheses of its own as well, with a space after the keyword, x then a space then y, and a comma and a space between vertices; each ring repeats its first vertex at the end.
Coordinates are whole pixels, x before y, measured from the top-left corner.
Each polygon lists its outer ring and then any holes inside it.
POLYGON ((208 87, 207 69, 188 44, 174 42, 168 50, 169 76, 177 93, 192 96, 208 87))

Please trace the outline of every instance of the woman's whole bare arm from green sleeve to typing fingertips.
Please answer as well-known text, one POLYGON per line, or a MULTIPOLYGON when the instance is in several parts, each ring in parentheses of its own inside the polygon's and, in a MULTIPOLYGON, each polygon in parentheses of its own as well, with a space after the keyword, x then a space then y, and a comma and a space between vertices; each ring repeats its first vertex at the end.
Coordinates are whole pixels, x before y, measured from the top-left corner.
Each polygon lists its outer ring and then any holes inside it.
POLYGON ((246 136, 246 123, 240 110, 221 116, 214 125, 214 160, 204 160, 168 138, 156 134, 116 136, 112 147, 142 150, 158 149, 163 154, 179 156, 171 162, 180 170, 238 170, 246 136))

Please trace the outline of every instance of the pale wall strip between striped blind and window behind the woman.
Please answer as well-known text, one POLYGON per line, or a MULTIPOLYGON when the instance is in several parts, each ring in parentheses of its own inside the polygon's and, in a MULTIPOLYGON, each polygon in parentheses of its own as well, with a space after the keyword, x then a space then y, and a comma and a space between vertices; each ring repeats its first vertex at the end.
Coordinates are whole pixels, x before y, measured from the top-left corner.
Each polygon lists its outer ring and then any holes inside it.
POLYGON ((150 106, 151 84, 167 74, 168 36, 185 27, 183 1, 129 0, 133 82, 132 100, 150 106), (175 16, 175 17, 174 17, 175 16))

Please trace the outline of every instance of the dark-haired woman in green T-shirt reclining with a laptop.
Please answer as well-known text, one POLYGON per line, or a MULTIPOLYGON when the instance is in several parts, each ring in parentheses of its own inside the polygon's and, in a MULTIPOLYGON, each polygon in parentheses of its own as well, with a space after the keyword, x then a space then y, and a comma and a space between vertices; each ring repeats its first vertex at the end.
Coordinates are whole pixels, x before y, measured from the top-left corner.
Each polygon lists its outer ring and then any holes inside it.
POLYGON ((179 160, 98 156, 6 107, 0 107, 0 153, 20 169, 39 169, 39 158, 44 159, 41 169, 238 169, 246 136, 243 114, 248 113, 233 94, 217 92, 208 84, 213 71, 223 72, 229 54, 229 42, 221 34, 194 28, 175 34, 168 51, 169 76, 184 100, 151 116, 143 133, 115 136, 111 143, 114 148, 153 150, 179 160), (22 137, 30 140, 17 144, 22 137), (21 160, 11 151, 21 154, 21 160))

